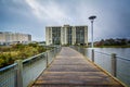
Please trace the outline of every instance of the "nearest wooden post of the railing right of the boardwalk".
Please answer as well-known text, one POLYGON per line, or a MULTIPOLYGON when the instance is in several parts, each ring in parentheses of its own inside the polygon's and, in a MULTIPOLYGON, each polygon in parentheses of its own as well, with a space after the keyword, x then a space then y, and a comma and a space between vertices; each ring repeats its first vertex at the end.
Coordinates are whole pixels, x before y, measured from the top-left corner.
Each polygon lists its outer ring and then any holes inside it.
POLYGON ((112 53, 112 75, 116 77, 117 73, 117 60, 116 60, 116 53, 112 53))

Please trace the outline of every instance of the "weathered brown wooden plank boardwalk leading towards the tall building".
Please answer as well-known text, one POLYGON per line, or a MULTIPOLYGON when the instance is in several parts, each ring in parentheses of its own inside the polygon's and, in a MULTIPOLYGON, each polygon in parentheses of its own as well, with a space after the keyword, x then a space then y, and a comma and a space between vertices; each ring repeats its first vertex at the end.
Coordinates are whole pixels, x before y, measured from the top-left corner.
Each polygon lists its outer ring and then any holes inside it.
POLYGON ((63 47, 32 87, 123 87, 79 52, 63 47))

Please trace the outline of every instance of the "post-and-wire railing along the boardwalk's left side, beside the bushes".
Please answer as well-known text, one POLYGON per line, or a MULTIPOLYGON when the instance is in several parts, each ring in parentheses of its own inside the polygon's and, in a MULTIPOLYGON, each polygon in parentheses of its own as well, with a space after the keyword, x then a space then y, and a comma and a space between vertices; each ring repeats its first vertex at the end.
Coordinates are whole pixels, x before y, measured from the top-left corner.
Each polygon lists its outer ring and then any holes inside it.
POLYGON ((60 50, 61 48, 56 47, 24 61, 17 60, 14 64, 0 69, 0 87, 27 87, 31 85, 60 50))

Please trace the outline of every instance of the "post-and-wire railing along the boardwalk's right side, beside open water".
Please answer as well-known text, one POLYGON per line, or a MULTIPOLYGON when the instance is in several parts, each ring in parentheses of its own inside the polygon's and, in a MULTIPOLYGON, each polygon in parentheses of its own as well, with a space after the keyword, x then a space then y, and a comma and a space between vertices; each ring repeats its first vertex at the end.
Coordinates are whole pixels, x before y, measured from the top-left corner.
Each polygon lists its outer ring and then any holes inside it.
POLYGON ((130 59, 118 57, 116 53, 105 53, 93 49, 72 47, 84 57, 100 65, 113 76, 123 82, 130 87, 130 59))

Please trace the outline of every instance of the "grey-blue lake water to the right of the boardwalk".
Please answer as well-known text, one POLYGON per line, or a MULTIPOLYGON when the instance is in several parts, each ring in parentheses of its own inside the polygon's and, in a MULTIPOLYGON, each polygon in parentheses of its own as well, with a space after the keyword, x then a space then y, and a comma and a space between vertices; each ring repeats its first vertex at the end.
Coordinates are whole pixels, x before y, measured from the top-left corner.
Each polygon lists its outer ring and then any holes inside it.
MULTIPOLYGON (((91 48, 76 48, 91 60, 91 48)), ((117 78, 130 87, 130 48, 94 48, 94 61, 112 73, 112 53, 117 54, 117 78)))

